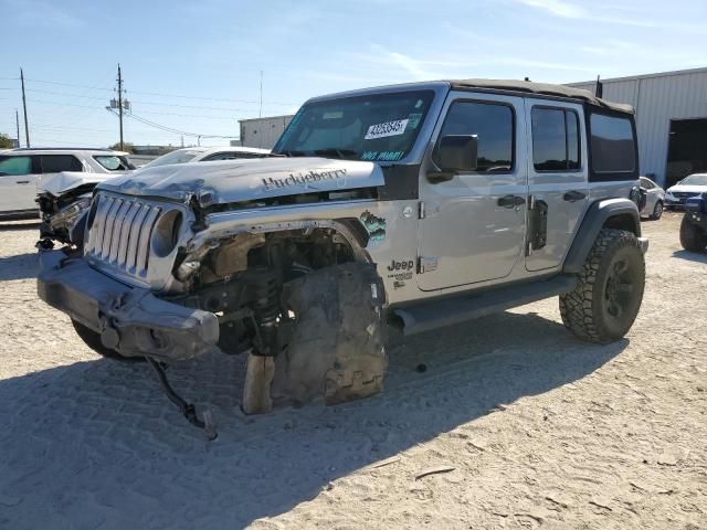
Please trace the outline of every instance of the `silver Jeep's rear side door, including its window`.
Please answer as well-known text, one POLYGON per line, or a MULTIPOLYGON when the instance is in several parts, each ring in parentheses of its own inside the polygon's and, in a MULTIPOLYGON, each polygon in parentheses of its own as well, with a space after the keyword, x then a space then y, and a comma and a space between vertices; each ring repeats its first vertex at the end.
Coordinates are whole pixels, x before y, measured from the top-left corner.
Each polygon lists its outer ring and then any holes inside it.
POLYGON ((528 239, 526 268, 558 267, 589 202, 587 139, 579 104, 526 99, 528 239))

